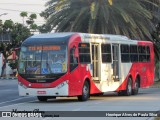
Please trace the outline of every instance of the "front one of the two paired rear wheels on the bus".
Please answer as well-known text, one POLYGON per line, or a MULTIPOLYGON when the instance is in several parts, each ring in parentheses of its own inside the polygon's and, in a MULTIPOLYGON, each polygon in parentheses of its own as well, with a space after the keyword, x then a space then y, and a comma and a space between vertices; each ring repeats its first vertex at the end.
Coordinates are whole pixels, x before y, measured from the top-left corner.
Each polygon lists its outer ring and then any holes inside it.
POLYGON ((128 78, 126 90, 124 91, 125 96, 130 96, 132 94, 132 79, 131 77, 128 78))

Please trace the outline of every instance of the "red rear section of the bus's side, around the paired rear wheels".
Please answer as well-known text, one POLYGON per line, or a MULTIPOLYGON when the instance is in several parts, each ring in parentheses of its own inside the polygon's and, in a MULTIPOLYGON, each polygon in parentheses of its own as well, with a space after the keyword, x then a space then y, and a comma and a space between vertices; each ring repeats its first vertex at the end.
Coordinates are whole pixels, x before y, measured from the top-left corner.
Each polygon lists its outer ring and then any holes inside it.
POLYGON ((125 78, 124 82, 118 87, 116 91, 125 90, 127 86, 128 77, 132 77, 132 88, 134 88, 134 83, 137 75, 140 76, 140 87, 146 88, 154 83, 154 51, 153 45, 150 46, 150 62, 139 62, 133 63, 132 67, 125 78))

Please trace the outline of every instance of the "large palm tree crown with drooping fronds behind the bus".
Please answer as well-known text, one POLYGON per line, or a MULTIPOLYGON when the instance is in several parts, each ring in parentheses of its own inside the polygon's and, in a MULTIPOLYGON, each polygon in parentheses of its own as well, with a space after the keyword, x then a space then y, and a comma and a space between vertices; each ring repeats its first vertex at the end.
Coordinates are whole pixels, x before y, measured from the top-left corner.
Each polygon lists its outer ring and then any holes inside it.
POLYGON ((121 34, 151 39, 152 19, 159 19, 147 6, 158 8, 159 0, 50 0, 41 13, 57 32, 74 31, 121 34))

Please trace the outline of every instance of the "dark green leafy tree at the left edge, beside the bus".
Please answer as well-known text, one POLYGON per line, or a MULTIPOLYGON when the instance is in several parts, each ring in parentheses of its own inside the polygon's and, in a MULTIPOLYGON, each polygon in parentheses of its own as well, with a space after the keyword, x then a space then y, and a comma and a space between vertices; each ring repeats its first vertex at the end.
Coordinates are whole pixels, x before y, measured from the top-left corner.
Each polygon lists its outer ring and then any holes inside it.
POLYGON ((0 31, 0 34, 8 33, 10 35, 10 42, 0 43, 0 52, 3 53, 4 56, 4 64, 1 72, 2 76, 6 67, 6 63, 8 62, 8 56, 12 54, 15 48, 20 47, 22 41, 28 38, 31 33, 30 29, 25 27, 23 24, 13 23, 11 20, 6 20, 1 26, 2 31, 0 31))

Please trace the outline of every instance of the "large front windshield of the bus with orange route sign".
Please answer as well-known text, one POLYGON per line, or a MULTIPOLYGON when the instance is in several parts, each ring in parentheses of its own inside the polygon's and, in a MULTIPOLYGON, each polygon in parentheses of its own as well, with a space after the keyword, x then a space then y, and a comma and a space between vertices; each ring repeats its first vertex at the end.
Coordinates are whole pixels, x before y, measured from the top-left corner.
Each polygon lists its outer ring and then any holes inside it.
POLYGON ((19 74, 58 74, 67 72, 65 45, 22 46, 19 74))

